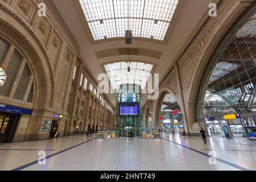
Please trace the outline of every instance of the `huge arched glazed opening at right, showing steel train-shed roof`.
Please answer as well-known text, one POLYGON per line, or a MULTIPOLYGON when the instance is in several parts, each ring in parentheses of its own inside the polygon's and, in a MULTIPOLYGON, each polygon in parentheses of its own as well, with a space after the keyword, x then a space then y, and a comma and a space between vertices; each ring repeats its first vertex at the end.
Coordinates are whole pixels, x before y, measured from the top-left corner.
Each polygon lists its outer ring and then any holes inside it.
POLYGON ((225 46, 217 48, 201 81, 196 113, 199 121, 204 118, 209 135, 225 135, 228 126, 234 136, 242 137, 245 127, 256 125, 255 115, 222 117, 256 111, 256 14, 250 17, 246 15, 237 30, 228 32, 232 38, 223 39, 225 46))

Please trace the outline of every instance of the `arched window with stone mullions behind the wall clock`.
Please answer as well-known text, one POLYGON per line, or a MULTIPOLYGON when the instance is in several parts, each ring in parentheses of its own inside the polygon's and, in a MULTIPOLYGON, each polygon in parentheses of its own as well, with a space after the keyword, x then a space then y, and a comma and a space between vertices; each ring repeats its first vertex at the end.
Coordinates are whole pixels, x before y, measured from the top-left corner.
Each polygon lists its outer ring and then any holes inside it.
POLYGON ((5 62, 6 81, 0 86, 0 96, 32 102, 34 78, 24 57, 18 49, 9 49, 9 44, 0 38, 0 65, 5 62), (6 56, 7 54, 11 56, 6 56), (7 58, 6 58, 7 57, 7 58), (8 57, 10 57, 8 59, 8 57))

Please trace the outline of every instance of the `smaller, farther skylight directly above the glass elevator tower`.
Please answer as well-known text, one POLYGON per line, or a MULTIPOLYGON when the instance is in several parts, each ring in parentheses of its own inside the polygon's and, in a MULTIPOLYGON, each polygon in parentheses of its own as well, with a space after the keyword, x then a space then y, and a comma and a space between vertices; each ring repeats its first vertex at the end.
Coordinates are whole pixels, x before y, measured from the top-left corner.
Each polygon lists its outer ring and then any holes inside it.
POLYGON ((123 61, 104 65, 113 89, 120 84, 137 84, 144 89, 153 65, 140 62, 123 61))

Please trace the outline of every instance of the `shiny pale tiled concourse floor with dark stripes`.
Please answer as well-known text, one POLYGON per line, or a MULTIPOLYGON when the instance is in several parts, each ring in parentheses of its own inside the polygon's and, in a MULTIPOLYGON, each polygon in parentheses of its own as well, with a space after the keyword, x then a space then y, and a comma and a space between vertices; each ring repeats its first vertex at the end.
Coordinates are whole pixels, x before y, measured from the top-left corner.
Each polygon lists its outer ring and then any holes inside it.
POLYGON ((256 170, 256 142, 162 134, 162 139, 85 135, 0 145, 0 170, 256 170), (38 152, 45 151, 45 165, 38 152), (216 164, 209 152, 216 154, 216 164))

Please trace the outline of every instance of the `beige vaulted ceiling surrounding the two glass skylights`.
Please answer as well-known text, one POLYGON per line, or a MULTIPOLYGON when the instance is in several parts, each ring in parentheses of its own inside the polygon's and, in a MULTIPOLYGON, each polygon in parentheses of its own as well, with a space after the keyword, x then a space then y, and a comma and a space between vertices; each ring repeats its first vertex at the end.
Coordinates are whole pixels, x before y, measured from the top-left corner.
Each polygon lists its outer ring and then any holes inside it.
MULTIPOLYGON (((98 74, 105 72, 102 65, 113 61, 127 60, 125 49, 132 49, 134 53, 130 53, 129 60, 153 64, 153 73, 158 73, 161 81, 174 65, 177 56, 200 30, 199 24, 212 1, 197 0, 195 3, 195 0, 179 0, 167 31, 166 40, 134 38, 132 44, 125 44, 124 38, 111 39, 112 41, 104 39, 95 42, 90 34, 85 15, 80 11, 81 7, 80 10, 77 8, 78 5, 81 6, 79 0, 65 0, 65 3, 63 0, 53 0, 52 2, 79 45, 80 57, 84 60, 95 80, 97 80, 98 74)), ((106 94, 106 96, 115 106, 115 95, 106 94)), ((143 97, 142 105, 146 101, 147 97, 143 97)))

